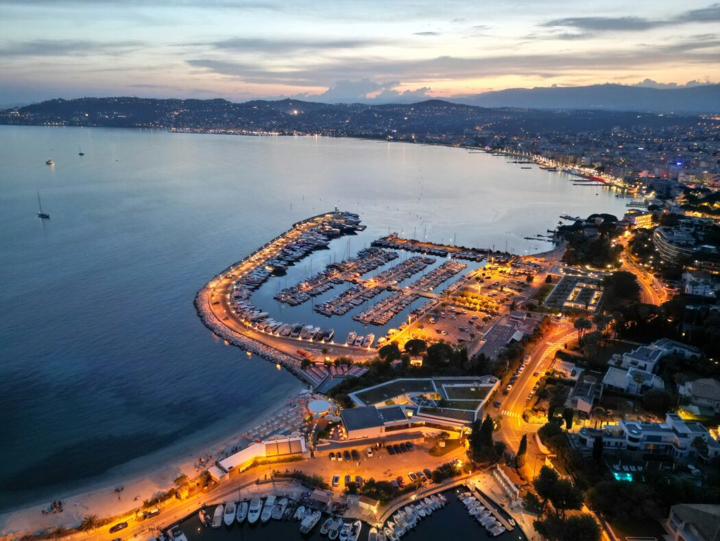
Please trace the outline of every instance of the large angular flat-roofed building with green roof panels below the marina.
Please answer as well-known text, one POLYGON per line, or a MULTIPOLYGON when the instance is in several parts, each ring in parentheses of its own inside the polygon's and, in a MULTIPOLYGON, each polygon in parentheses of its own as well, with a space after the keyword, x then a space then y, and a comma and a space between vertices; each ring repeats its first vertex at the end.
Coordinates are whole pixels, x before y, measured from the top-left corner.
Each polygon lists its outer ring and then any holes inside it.
POLYGON ((358 406, 342 410, 348 440, 441 431, 459 436, 477 419, 498 389, 493 376, 400 378, 351 393, 358 406))

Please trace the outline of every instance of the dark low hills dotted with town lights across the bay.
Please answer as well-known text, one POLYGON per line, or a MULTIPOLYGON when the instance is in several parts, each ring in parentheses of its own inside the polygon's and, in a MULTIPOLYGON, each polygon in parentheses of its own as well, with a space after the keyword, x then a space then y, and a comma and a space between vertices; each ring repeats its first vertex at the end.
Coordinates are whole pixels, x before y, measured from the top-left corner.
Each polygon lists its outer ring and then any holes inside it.
POLYGON ((517 133, 568 133, 612 128, 682 128, 697 117, 615 110, 478 107, 426 100, 413 104, 328 104, 300 100, 158 100, 84 97, 0 111, 0 124, 159 128, 222 133, 310 133, 388 140, 501 144, 517 133), (500 139, 498 139, 500 137, 500 139))

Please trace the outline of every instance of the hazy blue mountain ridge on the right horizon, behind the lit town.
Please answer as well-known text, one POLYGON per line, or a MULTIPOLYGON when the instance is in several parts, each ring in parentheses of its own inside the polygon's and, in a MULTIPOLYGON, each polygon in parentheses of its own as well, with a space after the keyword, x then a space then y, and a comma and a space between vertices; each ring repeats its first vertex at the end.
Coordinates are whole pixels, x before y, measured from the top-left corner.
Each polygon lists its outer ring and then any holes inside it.
POLYGON ((720 84, 667 89, 630 87, 624 84, 511 88, 465 96, 452 101, 482 107, 720 113, 720 84))

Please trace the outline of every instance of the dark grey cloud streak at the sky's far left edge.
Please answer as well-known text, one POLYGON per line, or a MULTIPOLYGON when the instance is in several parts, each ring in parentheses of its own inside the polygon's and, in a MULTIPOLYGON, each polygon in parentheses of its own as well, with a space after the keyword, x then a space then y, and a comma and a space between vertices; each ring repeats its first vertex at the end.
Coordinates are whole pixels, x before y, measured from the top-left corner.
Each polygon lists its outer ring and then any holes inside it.
POLYGON ((143 47, 142 41, 32 40, 0 48, 0 56, 117 56, 143 47))

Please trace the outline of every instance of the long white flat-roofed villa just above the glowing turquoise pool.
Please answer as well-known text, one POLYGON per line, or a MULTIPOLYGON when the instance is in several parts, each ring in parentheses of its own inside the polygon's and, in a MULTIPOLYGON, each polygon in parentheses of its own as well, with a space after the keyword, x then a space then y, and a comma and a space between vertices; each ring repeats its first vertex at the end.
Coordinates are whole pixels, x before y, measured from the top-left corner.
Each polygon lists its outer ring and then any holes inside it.
POLYGON ((702 423, 684 421, 676 413, 667 413, 663 423, 641 423, 639 421, 619 421, 604 428, 580 428, 570 441, 576 447, 590 452, 595 436, 603 439, 603 447, 611 451, 624 449, 642 454, 661 454, 675 459, 692 459, 698 456, 698 450, 692 443, 700 437, 708 446, 703 459, 720 456, 720 441, 717 432, 708 431, 702 423))

